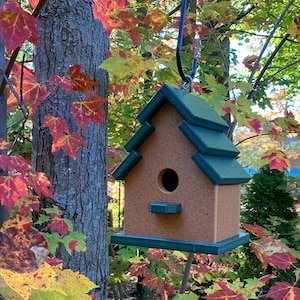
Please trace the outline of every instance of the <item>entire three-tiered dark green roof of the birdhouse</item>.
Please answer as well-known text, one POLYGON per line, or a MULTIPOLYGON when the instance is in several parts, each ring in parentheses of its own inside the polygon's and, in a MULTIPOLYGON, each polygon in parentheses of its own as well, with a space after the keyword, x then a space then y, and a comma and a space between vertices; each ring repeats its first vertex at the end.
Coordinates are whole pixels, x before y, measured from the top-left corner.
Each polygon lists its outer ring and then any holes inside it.
POLYGON ((167 102, 182 116, 178 127, 197 149, 191 159, 214 184, 239 184, 250 179, 236 160, 238 149, 224 134, 226 122, 205 100, 164 84, 139 113, 142 126, 125 145, 129 155, 113 172, 116 180, 124 180, 142 159, 138 148, 155 130, 151 119, 167 102))

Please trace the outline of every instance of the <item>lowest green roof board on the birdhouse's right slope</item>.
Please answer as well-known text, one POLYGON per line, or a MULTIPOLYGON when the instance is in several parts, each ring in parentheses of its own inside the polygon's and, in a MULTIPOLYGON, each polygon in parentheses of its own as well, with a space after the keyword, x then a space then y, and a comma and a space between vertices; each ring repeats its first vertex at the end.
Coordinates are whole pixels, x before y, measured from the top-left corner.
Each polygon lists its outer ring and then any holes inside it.
POLYGON ((235 158, 202 155, 199 152, 194 153, 192 158, 214 184, 240 184, 250 180, 250 175, 235 158))

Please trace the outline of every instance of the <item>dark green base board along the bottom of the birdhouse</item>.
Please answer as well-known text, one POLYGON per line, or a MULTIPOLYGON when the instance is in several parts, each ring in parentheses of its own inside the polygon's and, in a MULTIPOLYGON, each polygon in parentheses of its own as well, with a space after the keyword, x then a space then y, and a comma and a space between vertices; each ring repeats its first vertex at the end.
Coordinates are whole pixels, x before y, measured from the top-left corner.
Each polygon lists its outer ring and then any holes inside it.
POLYGON ((147 236, 134 236, 116 233, 111 236, 111 243, 132 245, 148 248, 171 249, 192 253, 222 254, 242 244, 249 242, 249 233, 241 232, 236 236, 217 243, 191 242, 153 238, 147 236))

